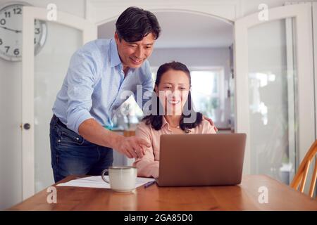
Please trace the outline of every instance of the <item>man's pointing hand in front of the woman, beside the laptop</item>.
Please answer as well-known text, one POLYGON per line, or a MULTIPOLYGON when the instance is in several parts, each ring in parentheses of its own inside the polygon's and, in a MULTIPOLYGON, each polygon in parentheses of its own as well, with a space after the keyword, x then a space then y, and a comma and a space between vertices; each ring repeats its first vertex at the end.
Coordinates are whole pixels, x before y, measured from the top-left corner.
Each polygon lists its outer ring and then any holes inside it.
POLYGON ((143 158, 145 149, 151 147, 147 141, 137 136, 124 137, 115 147, 128 158, 143 158))

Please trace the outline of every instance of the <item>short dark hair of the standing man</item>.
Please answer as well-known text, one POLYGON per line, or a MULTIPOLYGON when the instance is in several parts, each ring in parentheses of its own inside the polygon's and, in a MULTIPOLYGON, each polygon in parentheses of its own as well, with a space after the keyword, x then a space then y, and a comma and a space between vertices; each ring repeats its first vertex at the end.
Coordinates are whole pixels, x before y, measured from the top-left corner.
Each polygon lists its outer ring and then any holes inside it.
POLYGON ((119 16, 116 32, 120 40, 135 42, 141 41, 149 33, 154 34, 154 38, 158 39, 161 27, 153 13, 142 8, 129 7, 119 16))

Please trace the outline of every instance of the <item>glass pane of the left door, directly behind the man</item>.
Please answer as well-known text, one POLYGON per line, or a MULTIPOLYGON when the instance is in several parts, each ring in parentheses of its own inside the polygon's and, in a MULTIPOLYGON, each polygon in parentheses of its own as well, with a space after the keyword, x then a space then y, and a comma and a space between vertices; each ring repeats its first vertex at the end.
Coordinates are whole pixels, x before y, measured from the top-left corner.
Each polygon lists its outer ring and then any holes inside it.
POLYGON ((70 57, 82 46, 82 31, 49 21, 46 26, 47 39, 34 62, 35 192, 54 184, 49 143, 51 108, 70 57), (61 37, 67 38, 61 41, 61 37))

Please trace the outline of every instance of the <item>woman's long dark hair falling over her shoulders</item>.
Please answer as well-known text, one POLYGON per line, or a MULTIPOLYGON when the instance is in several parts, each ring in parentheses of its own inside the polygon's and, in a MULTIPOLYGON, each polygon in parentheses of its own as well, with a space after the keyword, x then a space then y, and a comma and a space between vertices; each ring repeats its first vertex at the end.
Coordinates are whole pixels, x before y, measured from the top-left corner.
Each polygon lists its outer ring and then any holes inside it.
MULTIPOLYGON (((159 86, 163 74, 166 73, 168 70, 180 70, 182 72, 185 72, 189 77, 189 85, 191 84, 190 72, 189 72, 187 66, 182 64, 182 63, 173 61, 171 63, 165 63, 159 67, 159 70, 157 70, 157 73, 156 73, 156 81, 155 81, 156 86, 159 86)), ((161 129, 162 124, 163 124, 163 115, 160 115, 160 112, 163 111, 162 110, 163 107, 161 105, 161 102, 159 101, 159 96, 156 95, 155 89, 154 89, 154 94, 152 96, 152 99, 155 98, 155 96, 156 96, 156 105, 154 105, 153 101, 152 101, 151 112, 152 113, 154 111, 156 111, 156 112, 154 112, 154 115, 150 114, 150 115, 145 116, 142 119, 142 121, 144 121, 145 124, 147 124, 147 125, 151 124, 151 126, 154 129, 159 130, 159 129, 161 129), (154 107, 156 106, 156 109, 153 109, 153 106, 154 107)), ((195 112, 194 108, 192 108, 192 95, 189 91, 188 98, 187 98, 187 101, 184 105, 182 117, 180 120, 180 129, 182 129, 182 130, 192 129, 194 127, 197 127, 199 124, 201 124, 201 121, 202 121, 202 114, 195 112), (189 115, 184 114, 185 109, 190 110, 189 115), (192 123, 185 123, 184 122, 184 118, 192 117, 194 114, 196 114, 196 120, 194 122, 192 122, 192 123)))

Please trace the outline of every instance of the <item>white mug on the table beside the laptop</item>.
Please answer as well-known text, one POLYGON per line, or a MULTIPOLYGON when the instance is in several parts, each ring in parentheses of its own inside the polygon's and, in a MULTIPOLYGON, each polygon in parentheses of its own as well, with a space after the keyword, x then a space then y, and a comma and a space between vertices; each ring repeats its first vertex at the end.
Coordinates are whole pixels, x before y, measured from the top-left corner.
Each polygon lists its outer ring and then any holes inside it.
POLYGON ((110 184, 113 191, 128 192, 135 190, 135 182, 137 180, 136 167, 108 167, 101 173, 102 179, 110 184), (109 180, 104 177, 108 172, 109 180))

